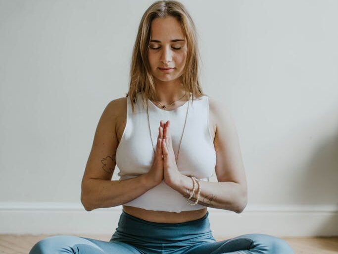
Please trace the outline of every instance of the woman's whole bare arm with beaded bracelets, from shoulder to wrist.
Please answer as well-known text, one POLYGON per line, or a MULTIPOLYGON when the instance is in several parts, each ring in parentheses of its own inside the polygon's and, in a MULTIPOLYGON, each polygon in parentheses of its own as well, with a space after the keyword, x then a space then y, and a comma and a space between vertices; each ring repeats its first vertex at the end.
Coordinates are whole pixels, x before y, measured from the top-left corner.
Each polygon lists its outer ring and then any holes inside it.
MULTIPOLYGON (((210 114, 216 120, 214 146, 218 182, 200 181, 198 204, 241 213, 247 204, 247 184, 235 122, 229 110, 218 101, 210 98, 209 106, 210 114)), ((182 175, 174 189, 188 198, 193 181, 182 175)), ((197 199, 196 193, 191 199, 193 202, 197 199)))

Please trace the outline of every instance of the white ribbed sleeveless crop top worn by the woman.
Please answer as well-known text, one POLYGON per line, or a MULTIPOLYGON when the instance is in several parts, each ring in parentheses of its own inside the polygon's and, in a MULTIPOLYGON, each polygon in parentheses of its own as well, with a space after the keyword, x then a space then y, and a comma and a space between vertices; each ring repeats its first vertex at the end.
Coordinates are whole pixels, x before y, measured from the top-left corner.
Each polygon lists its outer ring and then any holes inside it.
MULTIPOLYGON (((191 96, 185 104, 170 111, 158 108, 147 99, 152 143, 147 109, 143 106, 141 93, 137 95, 134 112, 130 98, 127 98, 126 126, 115 155, 116 165, 120 170, 117 174, 120 180, 138 177, 150 170, 154 149, 156 151, 158 127, 161 120, 164 122, 170 120, 172 145, 175 156, 177 155, 189 103, 177 167, 183 175, 194 176, 201 181, 209 181, 216 165, 216 152, 209 128, 208 99, 207 95, 194 98, 194 100, 191 96)), ((164 181, 124 205, 169 212, 205 208, 200 204, 188 204, 181 193, 169 187, 164 181)))

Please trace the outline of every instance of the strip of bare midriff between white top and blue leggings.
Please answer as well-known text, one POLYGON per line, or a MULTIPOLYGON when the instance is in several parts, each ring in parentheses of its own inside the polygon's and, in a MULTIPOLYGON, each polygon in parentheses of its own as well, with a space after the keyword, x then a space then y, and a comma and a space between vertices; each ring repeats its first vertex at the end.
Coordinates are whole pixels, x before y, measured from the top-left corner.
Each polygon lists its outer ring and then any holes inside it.
POLYGON ((159 223, 182 223, 192 220, 198 220, 202 218, 207 212, 206 207, 200 210, 182 211, 182 212, 146 210, 143 208, 129 205, 122 205, 122 207, 126 213, 134 217, 150 222, 159 222, 159 223))

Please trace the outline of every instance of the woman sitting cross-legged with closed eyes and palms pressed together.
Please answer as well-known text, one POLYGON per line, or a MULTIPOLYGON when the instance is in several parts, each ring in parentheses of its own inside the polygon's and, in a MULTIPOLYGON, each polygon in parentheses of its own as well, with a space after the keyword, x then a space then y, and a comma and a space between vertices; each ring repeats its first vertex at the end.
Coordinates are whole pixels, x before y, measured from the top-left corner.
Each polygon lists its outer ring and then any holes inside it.
POLYGON ((202 93, 197 53, 180 2, 157 1, 145 11, 129 92, 105 108, 82 181, 87 211, 123 205, 118 227, 109 242, 53 236, 30 254, 293 253, 269 235, 212 236, 207 207, 241 213, 247 187, 235 125, 202 93), (115 165, 120 179, 111 181, 115 165), (214 170, 218 183, 209 182, 214 170))

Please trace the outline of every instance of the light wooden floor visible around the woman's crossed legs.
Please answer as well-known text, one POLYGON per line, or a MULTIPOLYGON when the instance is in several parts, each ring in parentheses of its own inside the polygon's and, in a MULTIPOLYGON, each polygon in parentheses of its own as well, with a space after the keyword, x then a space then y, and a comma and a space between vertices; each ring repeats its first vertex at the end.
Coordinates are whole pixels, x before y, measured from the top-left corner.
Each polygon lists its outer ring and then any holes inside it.
MULTIPOLYGON (((28 254, 33 245, 50 235, 0 235, 0 254, 28 254)), ((77 235, 109 241, 109 235, 77 235)), ((281 237, 292 247, 295 254, 338 254, 338 237, 290 238, 281 237)), ((217 241, 229 238, 215 238, 217 241)))

